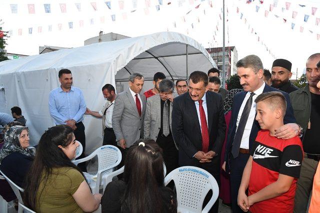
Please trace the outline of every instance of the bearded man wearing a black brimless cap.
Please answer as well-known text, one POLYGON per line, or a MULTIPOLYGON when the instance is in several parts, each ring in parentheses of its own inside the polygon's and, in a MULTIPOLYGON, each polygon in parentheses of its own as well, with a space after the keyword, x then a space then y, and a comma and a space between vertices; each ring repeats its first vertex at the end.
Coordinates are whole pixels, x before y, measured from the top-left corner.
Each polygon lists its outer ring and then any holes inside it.
POLYGON ((276 59, 273 61, 271 69, 271 86, 273 88, 277 88, 286 93, 299 89, 289 80, 292 76, 291 66, 291 62, 285 59, 276 59))

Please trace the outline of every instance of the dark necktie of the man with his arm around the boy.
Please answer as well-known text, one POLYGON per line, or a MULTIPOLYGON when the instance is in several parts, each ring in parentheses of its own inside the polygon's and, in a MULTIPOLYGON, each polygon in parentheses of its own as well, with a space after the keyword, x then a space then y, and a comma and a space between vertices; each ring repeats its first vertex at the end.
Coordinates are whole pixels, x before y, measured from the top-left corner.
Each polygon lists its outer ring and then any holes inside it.
POLYGON ((242 140, 242 136, 243 136, 243 131, 244 131, 244 127, 246 125, 246 122, 248 120, 249 113, 251 110, 253 95, 255 95, 255 94, 253 92, 251 92, 249 99, 245 103, 245 106, 243 108, 243 112, 242 112, 242 115, 241 115, 241 118, 239 121, 238 128, 237 128, 236 133, 234 135, 232 149, 231 149, 231 153, 232 153, 233 158, 236 158, 239 155, 239 149, 240 149, 240 144, 241 144, 241 140, 242 140))

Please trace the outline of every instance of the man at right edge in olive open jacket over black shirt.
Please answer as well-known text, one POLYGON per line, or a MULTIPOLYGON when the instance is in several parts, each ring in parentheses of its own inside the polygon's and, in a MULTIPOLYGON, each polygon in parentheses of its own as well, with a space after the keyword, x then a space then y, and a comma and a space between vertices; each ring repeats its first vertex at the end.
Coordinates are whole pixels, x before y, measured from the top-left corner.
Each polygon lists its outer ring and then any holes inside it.
POLYGON ((320 91, 316 84, 320 80, 320 68, 317 63, 320 53, 312 54, 306 61, 305 75, 307 84, 304 88, 290 93, 294 117, 303 128, 304 158, 297 181, 294 198, 294 213, 305 212, 310 191, 312 189, 313 176, 320 160, 320 143, 318 131, 320 129, 320 91))

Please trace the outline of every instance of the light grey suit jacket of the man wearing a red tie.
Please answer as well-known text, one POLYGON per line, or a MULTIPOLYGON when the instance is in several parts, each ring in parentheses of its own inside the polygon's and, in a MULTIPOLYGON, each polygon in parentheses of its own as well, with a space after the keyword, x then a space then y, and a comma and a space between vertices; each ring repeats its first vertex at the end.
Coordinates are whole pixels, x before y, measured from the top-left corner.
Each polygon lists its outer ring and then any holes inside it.
POLYGON ((138 114, 134 99, 127 89, 116 95, 112 113, 112 128, 116 141, 124 139, 126 147, 130 147, 140 136, 143 137, 143 116, 145 111, 145 96, 142 100, 141 117, 138 114))

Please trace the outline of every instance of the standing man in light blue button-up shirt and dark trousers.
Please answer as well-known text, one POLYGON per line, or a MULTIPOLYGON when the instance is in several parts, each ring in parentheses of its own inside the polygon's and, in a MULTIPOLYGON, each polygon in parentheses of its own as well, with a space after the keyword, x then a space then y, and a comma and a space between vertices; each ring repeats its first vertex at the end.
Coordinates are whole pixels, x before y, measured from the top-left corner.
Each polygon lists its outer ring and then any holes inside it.
MULTIPOLYGON (((79 158, 84 158, 85 134, 82 123, 86 106, 82 91, 72 86, 72 74, 68 69, 59 71, 59 81, 61 86, 51 90, 49 94, 49 111, 56 125, 65 124, 73 129, 75 139, 83 147, 83 152, 79 158)), ((86 171, 85 166, 79 164, 82 171, 86 171)))

